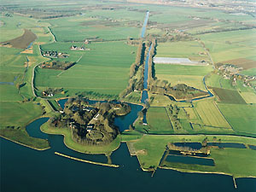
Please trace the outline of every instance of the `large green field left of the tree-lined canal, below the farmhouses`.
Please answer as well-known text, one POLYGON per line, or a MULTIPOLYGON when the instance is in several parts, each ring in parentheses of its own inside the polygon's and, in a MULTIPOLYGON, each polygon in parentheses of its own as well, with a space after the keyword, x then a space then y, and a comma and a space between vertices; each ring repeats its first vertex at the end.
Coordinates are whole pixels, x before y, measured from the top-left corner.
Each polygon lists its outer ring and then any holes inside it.
MULTIPOLYGON (((48 49, 50 46, 55 45, 49 45, 48 49)), ((63 46, 63 51, 70 52, 69 46, 70 44, 63 46)), ((137 47, 126 45, 124 42, 93 43, 88 47, 90 51, 72 53, 75 59, 79 54, 83 56, 67 71, 37 68, 36 87, 39 90, 46 87, 63 87, 69 96, 84 90, 118 96, 128 83, 129 70, 131 63, 135 61, 134 52, 137 47)), ((44 47, 46 48, 47 46, 44 47)))

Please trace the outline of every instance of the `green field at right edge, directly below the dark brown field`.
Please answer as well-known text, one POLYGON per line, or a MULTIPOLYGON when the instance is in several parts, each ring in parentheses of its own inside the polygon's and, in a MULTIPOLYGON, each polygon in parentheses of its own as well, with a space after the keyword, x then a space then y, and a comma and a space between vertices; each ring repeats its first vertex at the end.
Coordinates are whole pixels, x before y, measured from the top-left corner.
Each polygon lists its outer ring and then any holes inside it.
POLYGON ((235 131, 256 134, 256 107, 255 105, 218 104, 235 131))

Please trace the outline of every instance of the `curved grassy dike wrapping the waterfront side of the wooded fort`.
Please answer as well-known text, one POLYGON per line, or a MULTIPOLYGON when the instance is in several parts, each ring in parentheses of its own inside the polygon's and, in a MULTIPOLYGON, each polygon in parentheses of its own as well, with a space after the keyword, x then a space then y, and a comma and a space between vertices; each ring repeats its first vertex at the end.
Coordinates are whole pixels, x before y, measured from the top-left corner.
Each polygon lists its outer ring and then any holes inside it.
POLYGON ((106 146, 84 146, 79 143, 75 143, 71 136, 71 131, 68 129, 60 129, 60 128, 53 128, 49 125, 48 122, 46 122, 44 125, 41 126, 41 131, 47 134, 53 134, 53 135, 62 135, 64 136, 64 143, 67 146, 67 148, 71 148, 75 151, 78 151, 80 153, 84 154, 111 154, 114 150, 119 148, 121 137, 116 137, 115 140, 113 140, 112 143, 106 145, 106 146))

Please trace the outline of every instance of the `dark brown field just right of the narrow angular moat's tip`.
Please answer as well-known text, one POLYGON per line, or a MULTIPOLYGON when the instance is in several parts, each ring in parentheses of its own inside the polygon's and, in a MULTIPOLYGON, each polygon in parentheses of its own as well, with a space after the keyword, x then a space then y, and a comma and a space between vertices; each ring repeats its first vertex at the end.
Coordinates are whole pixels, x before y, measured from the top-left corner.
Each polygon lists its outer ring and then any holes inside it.
POLYGON ((219 102, 246 104, 237 90, 227 90, 216 87, 211 87, 211 89, 213 90, 214 94, 218 96, 219 102))

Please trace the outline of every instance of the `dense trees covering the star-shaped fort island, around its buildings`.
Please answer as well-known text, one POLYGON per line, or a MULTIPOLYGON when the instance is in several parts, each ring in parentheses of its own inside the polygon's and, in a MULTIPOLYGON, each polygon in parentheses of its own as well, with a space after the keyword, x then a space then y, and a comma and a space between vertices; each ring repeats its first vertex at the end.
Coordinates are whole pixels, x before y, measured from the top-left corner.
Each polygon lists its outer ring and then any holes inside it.
POLYGON ((113 125, 114 118, 130 111, 131 108, 126 103, 96 102, 89 104, 87 100, 78 96, 68 99, 63 113, 51 118, 50 125, 69 129, 73 140, 77 143, 104 145, 111 143, 119 134, 118 127, 113 125), (93 121, 91 121, 92 119, 93 121), (87 131, 89 124, 93 124, 93 130, 90 133, 87 131), (94 137, 99 135, 102 137, 94 137))

